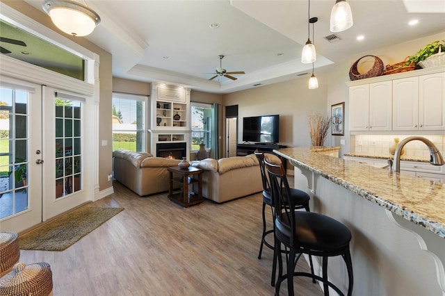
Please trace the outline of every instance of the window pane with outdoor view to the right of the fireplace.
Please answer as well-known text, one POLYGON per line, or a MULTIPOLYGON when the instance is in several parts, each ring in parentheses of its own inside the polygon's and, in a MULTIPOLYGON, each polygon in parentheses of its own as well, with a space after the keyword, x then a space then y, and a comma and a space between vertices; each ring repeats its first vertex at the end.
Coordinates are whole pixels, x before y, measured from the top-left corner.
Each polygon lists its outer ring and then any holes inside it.
POLYGON ((200 144, 211 148, 211 104, 191 103, 192 150, 199 150, 200 144))

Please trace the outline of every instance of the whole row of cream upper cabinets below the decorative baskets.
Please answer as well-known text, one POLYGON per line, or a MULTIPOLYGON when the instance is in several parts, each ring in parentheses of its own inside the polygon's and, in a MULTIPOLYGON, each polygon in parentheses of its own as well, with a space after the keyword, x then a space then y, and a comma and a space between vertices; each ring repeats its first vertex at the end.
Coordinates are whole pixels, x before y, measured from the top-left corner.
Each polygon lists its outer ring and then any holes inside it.
POLYGON ((444 67, 350 81, 350 131, 444 131, 444 67))

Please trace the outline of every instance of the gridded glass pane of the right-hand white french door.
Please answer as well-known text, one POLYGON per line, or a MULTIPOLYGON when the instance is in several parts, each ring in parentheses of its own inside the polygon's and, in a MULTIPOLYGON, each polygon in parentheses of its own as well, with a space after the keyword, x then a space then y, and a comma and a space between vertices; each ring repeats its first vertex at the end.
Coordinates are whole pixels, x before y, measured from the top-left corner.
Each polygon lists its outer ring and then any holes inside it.
POLYGON ((56 99, 56 198, 82 188, 82 103, 56 99), (74 133, 73 133, 74 131, 74 133))

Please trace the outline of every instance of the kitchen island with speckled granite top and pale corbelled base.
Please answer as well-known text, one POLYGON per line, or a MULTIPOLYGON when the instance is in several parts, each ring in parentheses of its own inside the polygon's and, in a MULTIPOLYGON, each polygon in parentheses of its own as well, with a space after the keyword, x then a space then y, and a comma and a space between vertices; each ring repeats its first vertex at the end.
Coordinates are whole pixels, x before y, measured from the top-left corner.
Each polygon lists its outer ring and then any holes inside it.
MULTIPOLYGON (((444 184, 331 157, 329 149, 274 152, 295 167, 295 187, 311 195, 311 211, 353 234, 353 295, 445 295, 444 184)), ((340 258, 328 269, 347 289, 340 258)))

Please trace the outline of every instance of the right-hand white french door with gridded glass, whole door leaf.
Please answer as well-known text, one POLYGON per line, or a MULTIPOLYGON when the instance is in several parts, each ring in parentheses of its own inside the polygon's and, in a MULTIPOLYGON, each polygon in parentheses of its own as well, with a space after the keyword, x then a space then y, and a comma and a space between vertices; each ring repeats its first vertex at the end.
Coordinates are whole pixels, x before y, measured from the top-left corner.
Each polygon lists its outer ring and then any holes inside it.
POLYGON ((45 176, 44 217, 50 218, 88 201, 84 190, 83 119, 85 97, 43 87, 45 176))

